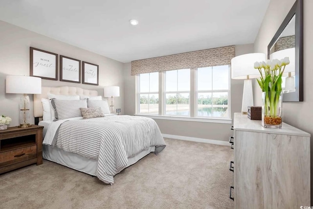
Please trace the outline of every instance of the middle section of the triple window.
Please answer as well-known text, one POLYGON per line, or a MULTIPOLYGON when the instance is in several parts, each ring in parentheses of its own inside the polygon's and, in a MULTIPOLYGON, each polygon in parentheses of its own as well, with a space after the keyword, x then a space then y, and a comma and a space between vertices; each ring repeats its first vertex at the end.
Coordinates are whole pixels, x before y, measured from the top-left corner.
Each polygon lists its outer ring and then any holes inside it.
POLYGON ((165 115, 190 116, 190 70, 165 72, 165 115))

